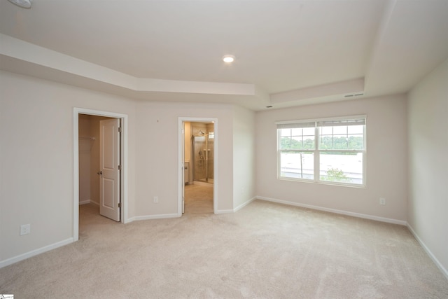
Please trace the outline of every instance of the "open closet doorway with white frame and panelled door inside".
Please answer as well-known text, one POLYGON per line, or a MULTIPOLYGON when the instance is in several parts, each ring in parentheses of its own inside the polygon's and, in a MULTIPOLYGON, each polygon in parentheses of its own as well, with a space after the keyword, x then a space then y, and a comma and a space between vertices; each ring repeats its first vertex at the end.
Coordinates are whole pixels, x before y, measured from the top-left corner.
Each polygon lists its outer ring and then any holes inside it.
POLYGON ((73 109, 73 162, 73 239, 80 203, 94 202, 102 215, 127 223, 127 116, 73 109))

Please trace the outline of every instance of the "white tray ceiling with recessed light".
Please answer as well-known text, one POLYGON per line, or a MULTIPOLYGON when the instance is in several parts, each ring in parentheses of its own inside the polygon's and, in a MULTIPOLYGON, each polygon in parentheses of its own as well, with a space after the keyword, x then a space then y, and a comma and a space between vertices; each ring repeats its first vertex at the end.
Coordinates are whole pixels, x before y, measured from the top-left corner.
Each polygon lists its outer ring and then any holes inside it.
POLYGON ((448 0, 31 1, 0 2, 0 69, 136 99, 387 95, 448 59, 448 0))

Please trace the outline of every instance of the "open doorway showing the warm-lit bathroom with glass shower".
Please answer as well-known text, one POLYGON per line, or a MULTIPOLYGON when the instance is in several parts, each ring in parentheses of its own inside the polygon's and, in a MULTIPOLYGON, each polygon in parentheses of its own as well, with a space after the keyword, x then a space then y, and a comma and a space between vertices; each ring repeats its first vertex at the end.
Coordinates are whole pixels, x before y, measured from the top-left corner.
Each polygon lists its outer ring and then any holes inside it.
POLYGON ((216 213, 216 118, 179 118, 181 148, 179 160, 183 173, 179 176, 181 213, 216 213))

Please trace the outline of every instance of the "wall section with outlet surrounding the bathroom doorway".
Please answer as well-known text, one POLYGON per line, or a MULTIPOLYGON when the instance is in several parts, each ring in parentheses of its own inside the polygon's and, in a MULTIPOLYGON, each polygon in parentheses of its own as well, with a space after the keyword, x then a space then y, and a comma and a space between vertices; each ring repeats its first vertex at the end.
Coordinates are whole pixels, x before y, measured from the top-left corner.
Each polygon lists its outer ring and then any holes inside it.
POLYGON ((218 118, 215 180, 218 210, 233 209, 231 105, 139 102, 137 105, 137 206, 136 216, 171 215, 178 211, 179 117, 218 118), (153 197, 159 202, 154 203, 153 197))

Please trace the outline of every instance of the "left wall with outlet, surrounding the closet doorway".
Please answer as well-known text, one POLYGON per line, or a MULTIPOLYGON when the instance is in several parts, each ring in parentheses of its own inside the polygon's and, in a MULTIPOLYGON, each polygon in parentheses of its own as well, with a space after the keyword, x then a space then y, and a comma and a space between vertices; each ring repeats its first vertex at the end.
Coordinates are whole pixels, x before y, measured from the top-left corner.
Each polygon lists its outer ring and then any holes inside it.
POLYGON ((134 213, 134 101, 0 71, 0 263, 73 238, 75 106, 129 116, 134 213), (20 236, 27 223, 31 234, 20 236))

